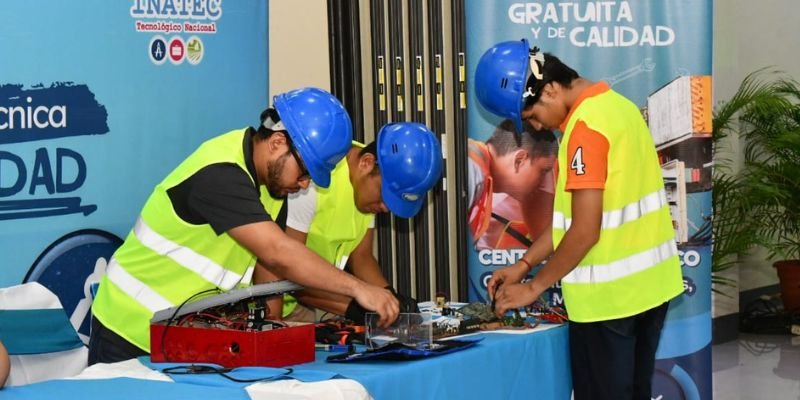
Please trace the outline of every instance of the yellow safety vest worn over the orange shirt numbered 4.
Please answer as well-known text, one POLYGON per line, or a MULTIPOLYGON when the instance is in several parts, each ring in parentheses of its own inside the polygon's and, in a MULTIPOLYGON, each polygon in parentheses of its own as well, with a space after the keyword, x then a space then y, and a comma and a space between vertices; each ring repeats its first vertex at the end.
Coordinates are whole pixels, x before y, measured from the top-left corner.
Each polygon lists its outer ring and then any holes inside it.
POLYGON ((572 194, 564 188, 568 168, 581 162, 567 153, 578 121, 608 140, 608 173, 600 239, 561 280, 564 302, 570 319, 576 322, 635 315, 683 291, 675 233, 653 139, 639 109, 612 90, 578 105, 559 146, 554 248, 572 223, 572 194))

